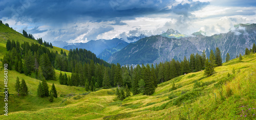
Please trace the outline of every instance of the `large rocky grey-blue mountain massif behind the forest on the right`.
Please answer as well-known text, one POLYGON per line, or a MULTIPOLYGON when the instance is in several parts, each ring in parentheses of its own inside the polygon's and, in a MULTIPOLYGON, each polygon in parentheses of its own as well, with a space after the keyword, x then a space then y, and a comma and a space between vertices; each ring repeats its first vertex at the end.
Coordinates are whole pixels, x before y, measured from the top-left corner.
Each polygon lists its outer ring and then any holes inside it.
MULTIPOLYGON (((176 32, 177 33, 177 32, 176 32)), ((159 63, 163 61, 183 60, 190 54, 202 54, 209 56, 210 50, 219 47, 223 62, 229 53, 230 58, 244 54, 245 48, 251 48, 256 42, 256 24, 240 24, 236 30, 219 35, 196 37, 166 38, 162 36, 151 36, 138 40, 124 47, 121 51, 113 54, 108 62, 124 64, 159 63)))

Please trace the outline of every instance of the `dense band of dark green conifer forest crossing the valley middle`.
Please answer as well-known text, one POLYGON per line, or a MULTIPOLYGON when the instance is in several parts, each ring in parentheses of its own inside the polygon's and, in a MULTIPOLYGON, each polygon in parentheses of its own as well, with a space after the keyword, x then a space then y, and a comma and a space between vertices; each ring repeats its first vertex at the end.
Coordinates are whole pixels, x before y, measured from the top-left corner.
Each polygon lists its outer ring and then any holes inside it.
MULTIPOLYGON (((53 52, 46 46, 18 41, 7 41, 7 51, 3 64, 9 64, 9 69, 14 68, 19 73, 31 75, 39 80, 57 80, 54 69, 61 70, 59 83, 69 86, 84 87, 87 91, 95 91, 97 88, 124 87, 132 93, 151 95, 157 84, 168 81, 175 77, 205 69, 205 76, 214 74, 214 68, 222 65, 221 52, 216 48, 215 53, 211 50, 209 59, 205 53, 202 55, 191 54, 190 58, 184 57, 183 61, 165 61, 159 64, 142 64, 133 66, 121 66, 109 64, 98 59, 95 54, 85 49, 73 49, 66 52, 53 52), (65 73, 71 72, 71 76, 65 73)), ((246 55, 255 53, 255 44, 252 49, 246 48, 246 55)), ((229 55, 226 55, 226 61, 229 55)), ((175 86, 174 86, 175 87, 175 86)), ((124 93, 124 92, 123 92, 124 93)), ((121 97, 122 98, 122 97, 121 97)))

